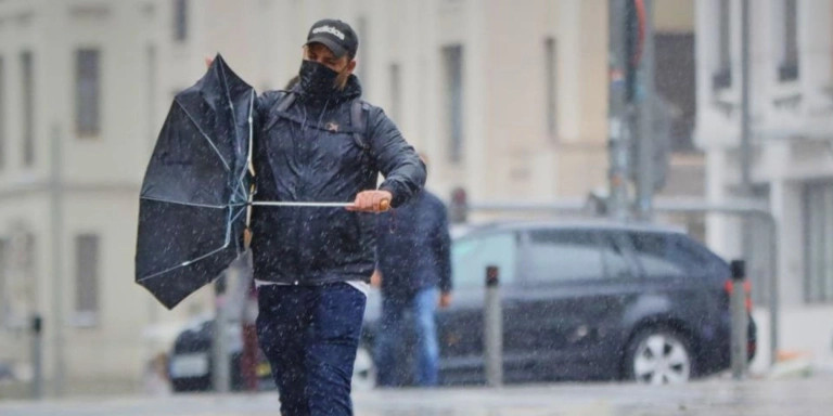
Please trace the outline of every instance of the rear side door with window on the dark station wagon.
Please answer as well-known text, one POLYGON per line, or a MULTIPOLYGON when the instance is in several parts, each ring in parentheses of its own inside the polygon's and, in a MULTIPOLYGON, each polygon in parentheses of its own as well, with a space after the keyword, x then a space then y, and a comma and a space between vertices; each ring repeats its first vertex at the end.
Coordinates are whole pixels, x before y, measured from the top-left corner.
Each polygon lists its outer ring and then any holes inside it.
POLYGON ((516 349, 543 378, 615 377, 615 334, 639 290, 626 255, 602 230, 534 230, 522 240, 516 349))

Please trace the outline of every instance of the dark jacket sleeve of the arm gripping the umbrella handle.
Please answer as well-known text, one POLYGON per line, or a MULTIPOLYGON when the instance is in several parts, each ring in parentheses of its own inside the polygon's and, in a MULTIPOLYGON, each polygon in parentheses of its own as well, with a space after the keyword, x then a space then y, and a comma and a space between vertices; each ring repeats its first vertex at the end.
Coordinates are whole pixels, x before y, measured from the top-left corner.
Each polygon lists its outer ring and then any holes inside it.
POLYGON ((390 206, 398 207, 425 185, 425 165, 379 107, 371 106, 369 110, 368 136, 374 162, 385 177, 379 188, 390 192, 390 206))

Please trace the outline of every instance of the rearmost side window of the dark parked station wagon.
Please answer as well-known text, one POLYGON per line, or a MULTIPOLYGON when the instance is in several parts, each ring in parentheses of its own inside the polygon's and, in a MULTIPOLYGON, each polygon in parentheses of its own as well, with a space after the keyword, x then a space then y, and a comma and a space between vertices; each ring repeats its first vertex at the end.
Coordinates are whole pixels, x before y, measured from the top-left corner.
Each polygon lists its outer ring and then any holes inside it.
POLYGON ((700 274, 696 259, 670 235, 629 233, 630 244, 646 277, 682 277, 700 274))

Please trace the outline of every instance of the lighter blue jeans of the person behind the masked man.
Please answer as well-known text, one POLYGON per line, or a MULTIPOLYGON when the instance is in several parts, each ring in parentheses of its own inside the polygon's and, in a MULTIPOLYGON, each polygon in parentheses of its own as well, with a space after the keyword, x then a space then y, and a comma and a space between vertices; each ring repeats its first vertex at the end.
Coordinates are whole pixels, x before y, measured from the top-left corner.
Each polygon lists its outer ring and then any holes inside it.
MULTIPOLYGON (((397 360, 397 346, 401 344, 403 317, 408 310, 413 316, 416 333, 416 360, 413 369, 418 386, 436 386, 439 366, 439 344, 434 314, 437 311, 439 289, 428 287, 416 291, 411 299, 385 296, 382 299, 382 321, 376 340, 376 382, 381 387, 401 386, 401 361, 397 360)), ((407 350, 411 350, 408 348, 407 350)))

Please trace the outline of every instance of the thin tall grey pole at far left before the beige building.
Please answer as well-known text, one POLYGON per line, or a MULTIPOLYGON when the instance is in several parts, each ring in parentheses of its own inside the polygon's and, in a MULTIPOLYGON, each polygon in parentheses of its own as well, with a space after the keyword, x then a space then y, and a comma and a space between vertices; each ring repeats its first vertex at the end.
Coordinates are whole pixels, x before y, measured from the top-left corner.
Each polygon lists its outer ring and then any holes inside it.
POLYGON ((50 216, 52 223, 52 350, 54 356, 54 393, 61 396, 64 393, 64 281, 63 273, 63 199, 64 190, 61 181, 63 160, 61 155, 61 128, 52 127, 51 140, 51 178, 50 178, 50 216))

